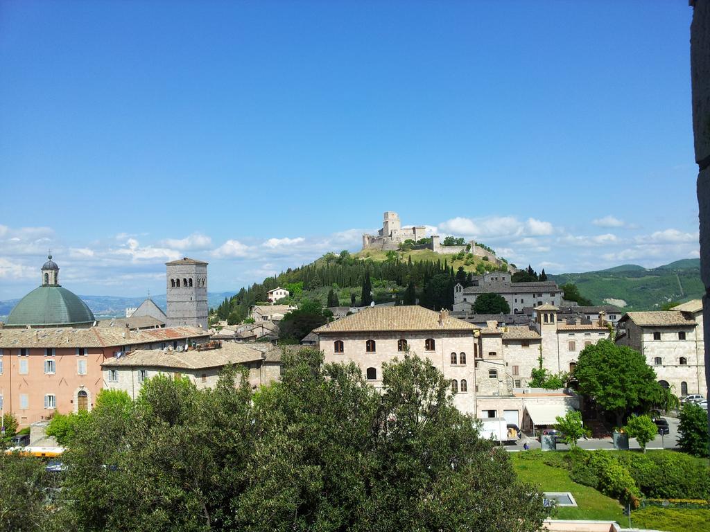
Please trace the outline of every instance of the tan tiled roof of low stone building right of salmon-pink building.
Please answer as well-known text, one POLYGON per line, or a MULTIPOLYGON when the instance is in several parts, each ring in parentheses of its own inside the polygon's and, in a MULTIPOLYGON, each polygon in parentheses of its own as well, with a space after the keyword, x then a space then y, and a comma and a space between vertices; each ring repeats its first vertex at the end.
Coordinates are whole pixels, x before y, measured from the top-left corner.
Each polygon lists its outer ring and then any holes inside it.
POLYGON ((244 343, 225 342, 219 349, 207 351, 137 350, 121 358, 109 358, 102 367, 165 367, 180 370, 200 370, 227 364, 244 364, 263 360, 261 350, 244 343))

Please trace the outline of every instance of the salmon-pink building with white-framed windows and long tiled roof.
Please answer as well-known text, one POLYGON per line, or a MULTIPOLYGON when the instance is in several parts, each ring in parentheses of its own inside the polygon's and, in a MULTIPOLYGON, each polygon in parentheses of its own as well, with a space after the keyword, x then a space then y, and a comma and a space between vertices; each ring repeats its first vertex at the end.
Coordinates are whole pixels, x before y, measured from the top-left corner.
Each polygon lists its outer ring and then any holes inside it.
MULTIPOLYGON (((51 318, 50 309, 45 309, 51 318)), ((101 365, 132 350, 185 349, 209 339, 200 328, 0 328, 0 401, 21 427, 91 410, 106 386, 101 365)))

